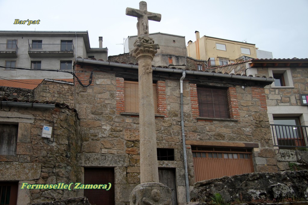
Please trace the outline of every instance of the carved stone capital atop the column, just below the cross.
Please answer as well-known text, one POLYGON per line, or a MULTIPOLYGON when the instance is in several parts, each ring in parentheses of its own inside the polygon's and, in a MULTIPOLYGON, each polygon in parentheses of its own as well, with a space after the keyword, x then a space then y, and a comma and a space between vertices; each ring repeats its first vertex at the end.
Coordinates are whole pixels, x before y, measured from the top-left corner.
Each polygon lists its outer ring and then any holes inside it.
POLYGON ((138 36, 134 43, 134 47, 130 55, 135 57, 137 61, 142 57, 148 57, 152 61, 157 53, 157 49, 160 49, 158 44, 154 44, 154 40, 151 37, 145 36, 138 36))

